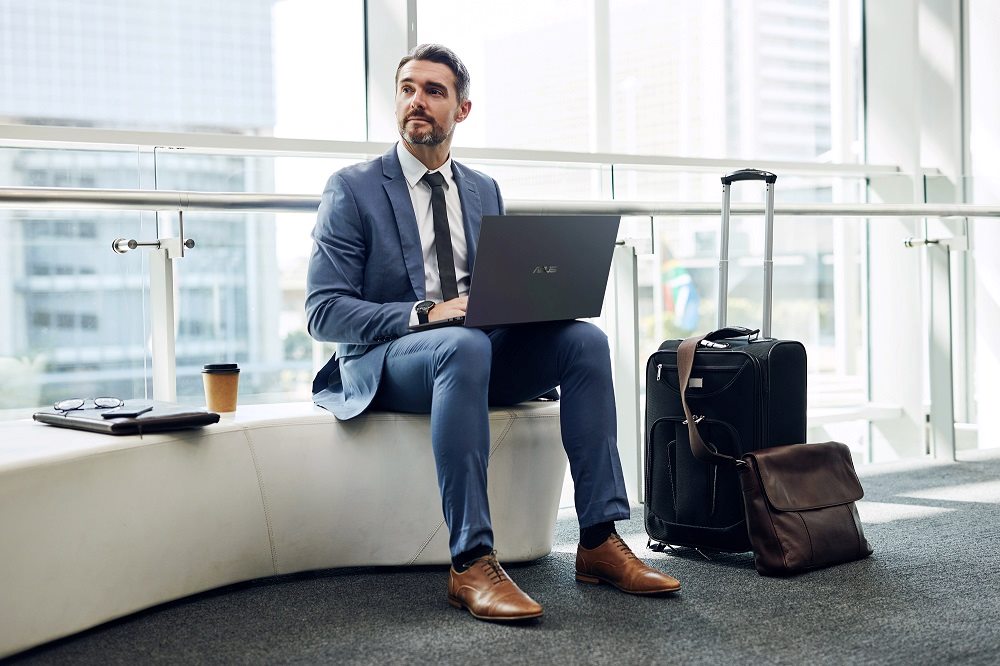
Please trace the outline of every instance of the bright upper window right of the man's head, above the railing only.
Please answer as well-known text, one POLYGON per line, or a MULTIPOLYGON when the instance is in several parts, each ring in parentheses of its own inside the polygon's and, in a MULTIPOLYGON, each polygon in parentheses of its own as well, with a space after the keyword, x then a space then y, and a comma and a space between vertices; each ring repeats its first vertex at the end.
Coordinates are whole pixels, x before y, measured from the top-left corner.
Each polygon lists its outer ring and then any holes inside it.
POLYGON ((457 145, 860 160, 856 0, 420 0, 417 21, 473 75, 457 145))

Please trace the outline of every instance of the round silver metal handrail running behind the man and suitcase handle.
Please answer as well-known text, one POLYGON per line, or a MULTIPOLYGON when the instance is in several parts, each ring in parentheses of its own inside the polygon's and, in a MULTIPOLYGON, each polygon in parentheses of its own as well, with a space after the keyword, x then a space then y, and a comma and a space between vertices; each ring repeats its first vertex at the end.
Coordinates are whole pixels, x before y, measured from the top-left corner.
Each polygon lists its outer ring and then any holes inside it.
MULTIPOLYGON (((315 212, 313 194, 113 190, 62 187, 0 187, 0 207, 99 208, 105 210, 315 212)), ((719 203, 677 201, 508 201, 509 213, 712 216, 719 203)), ((734 215, 760 215, 763 204, 733 204, 734 215)), ((1000 205, 976 204, 778 204, 776 215, 809 217, 1000 217, 1000 205)))

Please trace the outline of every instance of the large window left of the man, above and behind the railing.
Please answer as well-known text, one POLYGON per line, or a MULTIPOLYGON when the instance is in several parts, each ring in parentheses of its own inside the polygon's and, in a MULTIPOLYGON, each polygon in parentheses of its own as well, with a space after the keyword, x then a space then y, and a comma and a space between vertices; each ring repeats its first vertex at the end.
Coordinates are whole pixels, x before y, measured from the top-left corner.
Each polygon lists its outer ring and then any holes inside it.
MULTIPOLYGON (((0 123, 363 141, 363 6, 2 0, 0 123)), ((0 185, 315 194, 343 163, 11 147, 0 149, 0 185)), ((182 398, 196 397, 196 365, 222 360, 245 362, 247 399, 308 395, 294 285, 309 217, 191 216, 198 247, 178 269, 182 398)), ((167 224, 152 213, 0 209, 0 411, 150 394, 148 256, 115 255, 111 241, 151 240, 167 224)))

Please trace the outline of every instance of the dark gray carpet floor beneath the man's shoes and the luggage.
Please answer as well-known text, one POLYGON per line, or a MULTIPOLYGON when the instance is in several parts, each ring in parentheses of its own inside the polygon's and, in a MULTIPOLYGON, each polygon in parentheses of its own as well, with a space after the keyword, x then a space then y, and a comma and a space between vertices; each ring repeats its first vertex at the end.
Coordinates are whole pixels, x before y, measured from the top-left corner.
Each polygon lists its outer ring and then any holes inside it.
MULTIPOLYGON (((747 555, 646 549, 642 510, 619 531, 676 576, 639 598, 573 579, 577 530, 509 566, 545 607, 524 626, 445 601, 445 568, 351 569, 205 593, 11 658, 16 664, 997 664, 1000 452, 860 470, 875 548, 864 561, 764 578, 747 555)), ((392 538, 386 535, 386 538, 392 538)))

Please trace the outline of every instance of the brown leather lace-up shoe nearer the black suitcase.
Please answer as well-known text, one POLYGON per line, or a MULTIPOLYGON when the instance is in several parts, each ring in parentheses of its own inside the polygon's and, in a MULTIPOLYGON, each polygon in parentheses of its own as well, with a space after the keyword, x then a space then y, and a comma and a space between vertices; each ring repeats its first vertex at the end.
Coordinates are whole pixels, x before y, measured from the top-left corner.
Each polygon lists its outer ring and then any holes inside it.
POLYGON ((614 533, 597 548, 577 547, 576 579, 610 583, 629 594, 663 594, 681 589, 680 581, 644 563, 614 533))

